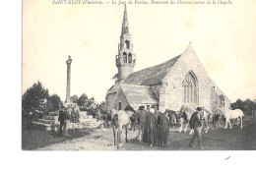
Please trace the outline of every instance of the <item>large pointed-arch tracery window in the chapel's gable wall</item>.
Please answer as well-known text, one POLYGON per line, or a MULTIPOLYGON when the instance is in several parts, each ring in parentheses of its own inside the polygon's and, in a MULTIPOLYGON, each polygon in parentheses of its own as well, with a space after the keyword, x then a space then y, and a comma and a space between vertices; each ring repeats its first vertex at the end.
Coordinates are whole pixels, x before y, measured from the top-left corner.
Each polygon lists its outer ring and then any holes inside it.
POLYGON ((198 104, 198 82, 195 74, 193 72, 187 73, 185 79, 182 82, 182 85, 184 90, 184 103, 198 104))

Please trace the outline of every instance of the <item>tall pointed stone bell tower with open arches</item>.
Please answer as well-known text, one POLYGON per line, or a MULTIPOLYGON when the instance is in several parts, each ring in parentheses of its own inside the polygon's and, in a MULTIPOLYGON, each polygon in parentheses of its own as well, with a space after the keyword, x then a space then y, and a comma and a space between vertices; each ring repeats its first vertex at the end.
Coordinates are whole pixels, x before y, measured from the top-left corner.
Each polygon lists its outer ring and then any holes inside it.
POLYGON ((118 55, 116 55, 115 62, 118 69, 117 82, 121 82, 133 73, 136 58, 133 53, 132 35, 129 30, 126 5, 124 6, 120 43, 118 44, 118 55))

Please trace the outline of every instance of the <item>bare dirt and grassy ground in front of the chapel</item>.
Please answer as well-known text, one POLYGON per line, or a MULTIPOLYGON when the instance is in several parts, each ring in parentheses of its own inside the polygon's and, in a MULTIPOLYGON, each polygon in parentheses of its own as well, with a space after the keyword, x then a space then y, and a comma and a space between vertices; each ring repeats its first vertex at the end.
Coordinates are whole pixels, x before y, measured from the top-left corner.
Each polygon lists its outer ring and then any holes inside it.
MULTIPOLYGON (((224 125, 222 125, 224 126, 224 125)), ((167 147, 150 147, 147 143, 138 142, 138 132, 129 131, 125 143, 124 131, 120 148, 113 145, 112 129, 82 129, 70 132, 65 138, 55 132, 41 130, 25 130, 22 132, 22 148, 24 150, 197 150, 188 146, 192 135, 178 133, 170 128, 169 145, 167 147)), ((196 144, 196 143, 195 143, 196 144)), ((210 125, 209 133, 203 134, 205 150, 255 150, 256 149, 256 118, 245 117, 244 127, 240 129, 217 128, 210 125)))

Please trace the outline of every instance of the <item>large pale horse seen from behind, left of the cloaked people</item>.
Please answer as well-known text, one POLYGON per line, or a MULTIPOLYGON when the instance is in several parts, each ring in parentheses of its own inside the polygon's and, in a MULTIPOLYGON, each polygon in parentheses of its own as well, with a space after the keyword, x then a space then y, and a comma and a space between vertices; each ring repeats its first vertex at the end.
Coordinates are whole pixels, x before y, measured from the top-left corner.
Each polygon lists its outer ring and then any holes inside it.
POLYGON ((132 109, 126 110, 113 110, 111 114, 111 125, 113 128, 113 137, 114 137, 114 145, 117 145, 117 148, 119 148, 120 138, 122 134, 123 128, 125 128, 125 142, 128 142, 127 140, 127 132, 128 132, 128 126, 130 123, 130 117, 135 113, 135 111, 132 109))

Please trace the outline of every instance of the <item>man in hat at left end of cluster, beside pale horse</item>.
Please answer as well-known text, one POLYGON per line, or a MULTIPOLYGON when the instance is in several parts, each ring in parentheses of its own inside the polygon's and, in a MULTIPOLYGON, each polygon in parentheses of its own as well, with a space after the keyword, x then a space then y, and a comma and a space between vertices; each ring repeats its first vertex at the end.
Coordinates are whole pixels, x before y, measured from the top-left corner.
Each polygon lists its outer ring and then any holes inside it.
POLYGON ((142 137, 144 134, 144 127, 145 127, 145 120, 146 120, 146 116, 147 116, 145 106, 139 107, 139 110, 137 111, 137 115, 138 115, 138 127, 139 127, 138 141, 142 142, 142 137))

